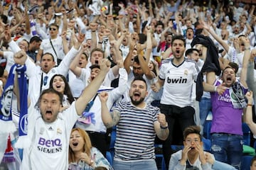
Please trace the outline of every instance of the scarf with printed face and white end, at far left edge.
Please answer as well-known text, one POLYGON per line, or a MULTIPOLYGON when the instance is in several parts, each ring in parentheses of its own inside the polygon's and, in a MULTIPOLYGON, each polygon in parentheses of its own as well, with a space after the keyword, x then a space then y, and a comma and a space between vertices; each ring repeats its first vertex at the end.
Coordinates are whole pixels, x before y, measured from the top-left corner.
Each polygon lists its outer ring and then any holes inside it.
POLYGON ((11 118, 11 100, 14 90, 15 69, 16 65, 13 65, 10 69, 6 85, 4 86, 4 91, 0 98, 0 161, 4 157, 9 134, 16 131, 16 127, 11 118))

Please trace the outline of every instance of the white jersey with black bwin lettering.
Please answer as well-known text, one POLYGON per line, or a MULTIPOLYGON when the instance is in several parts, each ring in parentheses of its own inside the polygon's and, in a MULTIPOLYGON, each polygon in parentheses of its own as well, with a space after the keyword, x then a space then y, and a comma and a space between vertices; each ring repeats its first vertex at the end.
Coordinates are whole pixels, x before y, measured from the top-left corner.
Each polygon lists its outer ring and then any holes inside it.
POLYGON ((159 79, 164 80, 164 92, 161 104, 179 107, 192 106, 192 83, 198 71, 192 60, 185 59, 178 66, 173 59, 164 60, 161 64, 159 79))

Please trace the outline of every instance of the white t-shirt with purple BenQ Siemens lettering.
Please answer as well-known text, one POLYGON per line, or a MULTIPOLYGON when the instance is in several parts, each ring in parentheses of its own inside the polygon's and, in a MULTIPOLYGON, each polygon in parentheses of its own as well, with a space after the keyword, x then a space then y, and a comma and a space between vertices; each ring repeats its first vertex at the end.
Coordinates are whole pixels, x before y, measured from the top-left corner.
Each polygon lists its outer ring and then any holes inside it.
POLYGON ((78 119, 75 102, 58 114, 53 123, 45 123, 38 109, 28 108, 28 137, 31 147, 23 150, 21 169, 68 169, 70 132, 78 119))

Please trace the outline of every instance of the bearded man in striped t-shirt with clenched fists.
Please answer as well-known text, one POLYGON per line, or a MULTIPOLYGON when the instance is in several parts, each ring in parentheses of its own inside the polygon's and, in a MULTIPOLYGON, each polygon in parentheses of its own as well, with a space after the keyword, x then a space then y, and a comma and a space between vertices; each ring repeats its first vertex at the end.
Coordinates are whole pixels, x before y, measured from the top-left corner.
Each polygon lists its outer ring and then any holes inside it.
POLYGON ((157 135, 166 140, 169 129, 159 108, 144 101, 148 94, 146 89, 146 81, 135 77, 129 90, 131 101, 121 101, 112 113, 107 108, 108 94, 100 94, 103 123, 107 128, 117 125, 114 169, 157 169, 154 138, 157 135))

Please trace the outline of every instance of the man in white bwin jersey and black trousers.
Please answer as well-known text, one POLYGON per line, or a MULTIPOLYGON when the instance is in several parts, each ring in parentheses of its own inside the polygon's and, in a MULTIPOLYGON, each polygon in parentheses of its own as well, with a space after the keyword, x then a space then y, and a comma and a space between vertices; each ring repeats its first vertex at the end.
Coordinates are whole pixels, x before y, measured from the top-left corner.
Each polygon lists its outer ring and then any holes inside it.
MULTIPOLYGON (((164 86, 163 95, 160 101, 160 111, 166 115, 169 124, 169 137, 163 141, 163 154, 166 162, 166 169, 169 167, 171 158, 171 144, 174 139, 174 124, 183 132, 190 125, 195 125, 193 115, 195 113, 192 103, 192 85, 196 81, 198 72, 195 62, 183 56, 186 50, 186 41, 182 35, 174 35, 171 41, 173 56, 163 60, 159 72, 159 79, 151 84, 151 89, 158 92, 164 86)), ((175 140, 182 145, 182 135, 175 136, 175 140), (177 139, 178 138, 178 139, 177 139)))

